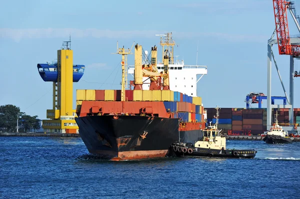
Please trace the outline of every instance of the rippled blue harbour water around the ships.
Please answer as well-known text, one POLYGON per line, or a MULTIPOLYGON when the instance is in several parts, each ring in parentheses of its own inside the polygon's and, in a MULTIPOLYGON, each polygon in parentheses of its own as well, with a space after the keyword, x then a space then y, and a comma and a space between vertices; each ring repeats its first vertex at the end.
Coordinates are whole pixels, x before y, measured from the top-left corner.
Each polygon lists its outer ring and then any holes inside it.
POLYGON ((227 148, 258 153, 113 162, 88 155, 80 138, 0 137, 0 198, 300 198, 300 142, 229 140, 227 148))

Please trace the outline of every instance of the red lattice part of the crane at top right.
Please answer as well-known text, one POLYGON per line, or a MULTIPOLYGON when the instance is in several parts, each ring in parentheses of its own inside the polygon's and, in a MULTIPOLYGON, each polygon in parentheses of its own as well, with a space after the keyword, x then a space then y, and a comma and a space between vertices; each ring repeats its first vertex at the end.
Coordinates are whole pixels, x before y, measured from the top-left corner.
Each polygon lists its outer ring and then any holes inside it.
POLYGON ((300 56, 300 45, 291 45, 287 23, 287 0, 273 0, 279 54, 300 56))

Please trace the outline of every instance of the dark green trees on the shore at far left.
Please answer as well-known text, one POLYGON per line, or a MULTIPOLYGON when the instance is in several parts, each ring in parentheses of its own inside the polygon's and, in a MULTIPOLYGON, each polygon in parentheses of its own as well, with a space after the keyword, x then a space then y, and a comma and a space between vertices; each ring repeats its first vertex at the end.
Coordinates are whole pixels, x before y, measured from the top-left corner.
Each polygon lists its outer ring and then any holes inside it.
POLYGON ((30 129, 40 128, 37 115, 30 116, 20 111, 19 107, 11 104, 0 106, 0 128, 3 132, 16 132, 18 118, 18 132, 28 132, 30 129))

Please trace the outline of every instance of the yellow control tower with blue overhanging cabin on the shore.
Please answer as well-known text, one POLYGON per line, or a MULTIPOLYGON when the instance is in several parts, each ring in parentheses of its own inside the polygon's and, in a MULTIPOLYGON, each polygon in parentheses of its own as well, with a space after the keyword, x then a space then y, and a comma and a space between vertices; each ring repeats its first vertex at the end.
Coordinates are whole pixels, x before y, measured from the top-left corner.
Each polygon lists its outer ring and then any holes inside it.
MULTIPOLYGON (((67 41, 69 42, 69 41, 67 41)), ((45 133, 78 133, 73 110, 73 81, 83 75, 84 65, 73 65, 73 51, 57 50, 57 63, 37 64, 44 81, 53 82, 53 109, 47 110, 47 120, 42 121, 45 133)))

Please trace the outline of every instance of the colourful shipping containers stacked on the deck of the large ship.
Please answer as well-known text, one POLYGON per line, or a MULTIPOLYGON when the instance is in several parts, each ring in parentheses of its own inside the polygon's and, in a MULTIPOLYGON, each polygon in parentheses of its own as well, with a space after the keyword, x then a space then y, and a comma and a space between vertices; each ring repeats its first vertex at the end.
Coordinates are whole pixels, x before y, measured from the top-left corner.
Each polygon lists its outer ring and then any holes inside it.
MULTIPOLYGON (((120 90, 76 90, 76 110, 82 101, 121 101, 120 90)), ((162 101, 166 112, 183 122, 202 122, 201 97, 190 97, 170 90, 125 90, 125 101, 162 101)))

